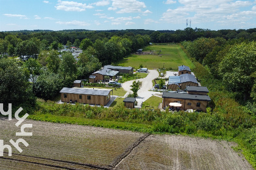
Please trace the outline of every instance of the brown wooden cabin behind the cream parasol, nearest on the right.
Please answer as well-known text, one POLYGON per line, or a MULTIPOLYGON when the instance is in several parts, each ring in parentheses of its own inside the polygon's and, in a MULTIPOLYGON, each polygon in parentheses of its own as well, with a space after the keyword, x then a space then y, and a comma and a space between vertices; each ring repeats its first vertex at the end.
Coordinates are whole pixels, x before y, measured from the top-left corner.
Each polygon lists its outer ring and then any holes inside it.
POLYGON ((206 112, 207 104, 211 101, 208 95, 194 95, 177 92, 163 92, 163 108, 169 106, 169 103, 180 103, 180 109, 193 109, 206 112))

